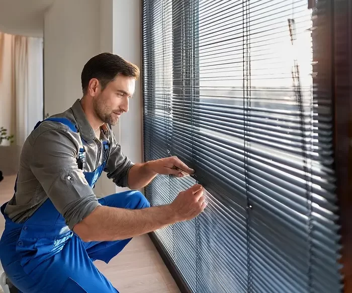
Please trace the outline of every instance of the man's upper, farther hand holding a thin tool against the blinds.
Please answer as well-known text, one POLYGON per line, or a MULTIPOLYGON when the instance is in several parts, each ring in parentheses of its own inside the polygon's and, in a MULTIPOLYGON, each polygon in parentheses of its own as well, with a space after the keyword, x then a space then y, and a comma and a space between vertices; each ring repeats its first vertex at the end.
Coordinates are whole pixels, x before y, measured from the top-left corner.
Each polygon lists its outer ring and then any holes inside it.
POLYGON ((176 156, 150 161, 147 164, 154 174, 184 177, 185 175, 194 173, 193 169, 189 168, 176 156))

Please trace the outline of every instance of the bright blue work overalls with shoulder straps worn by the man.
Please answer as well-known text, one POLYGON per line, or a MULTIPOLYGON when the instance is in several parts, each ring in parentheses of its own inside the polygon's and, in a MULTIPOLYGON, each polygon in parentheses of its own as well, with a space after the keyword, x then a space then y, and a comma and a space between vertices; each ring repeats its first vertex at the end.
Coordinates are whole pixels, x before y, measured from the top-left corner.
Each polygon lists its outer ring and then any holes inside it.
MULTIPOLYGON (((65 118, 47 118, 77 131, 65 118)), ((41 123, 38 122, 36 127, 41 123)), ((35 128, 36 128, 35 127, 35 128)), ((105 145, 106 152, 109 145, 105 145)), ((84 150, 80 150, 84 152, 84 150)), ((84 173, 93 188, 108 155, 94 172, 84 173)), ((16 180, 17 181, 17 180, 16 180)), ((15 184, 16 192, 16 184, 15 184)), ((100 198, 102 205, 120 208, 149 207, 139 191, 126 191, 100 198)), ((4 214, 5 203, 1 207, 4 214)), ((16 224, 5 214, 5 231, 0 240, 0 259, 11 282, 24 293, 110 293, 118 292, 99 272, 93 261, 108 263, 131 239, 83 242, 65 224, 48 198, 24 223, 16 224)))

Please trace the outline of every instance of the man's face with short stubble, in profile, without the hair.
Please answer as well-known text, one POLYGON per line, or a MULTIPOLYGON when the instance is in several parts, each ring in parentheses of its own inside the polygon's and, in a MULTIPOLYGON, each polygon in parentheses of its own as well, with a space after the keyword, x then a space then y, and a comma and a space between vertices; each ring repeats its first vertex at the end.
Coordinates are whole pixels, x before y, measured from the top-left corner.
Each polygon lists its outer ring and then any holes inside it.
POLYGON ((128 111, 129 99, 134 93, 134 88, 135 79, 123 75, 118 75, 103 91, 100 85, 97 85, 93 97, 96 116, 104 123, 116 125, 120 115, 128 111))

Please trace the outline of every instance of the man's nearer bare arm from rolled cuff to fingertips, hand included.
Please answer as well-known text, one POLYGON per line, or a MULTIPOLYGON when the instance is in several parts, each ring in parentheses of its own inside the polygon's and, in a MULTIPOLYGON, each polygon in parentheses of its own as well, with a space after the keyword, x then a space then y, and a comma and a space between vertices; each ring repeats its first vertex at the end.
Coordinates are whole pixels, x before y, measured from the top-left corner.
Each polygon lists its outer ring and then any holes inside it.
POLYGON ((128 239, 192 219, 206 205, 203 187, 196 184, 167 205, 142 209, 98 206, 73 227, 73 232, 84 242, 128 239))

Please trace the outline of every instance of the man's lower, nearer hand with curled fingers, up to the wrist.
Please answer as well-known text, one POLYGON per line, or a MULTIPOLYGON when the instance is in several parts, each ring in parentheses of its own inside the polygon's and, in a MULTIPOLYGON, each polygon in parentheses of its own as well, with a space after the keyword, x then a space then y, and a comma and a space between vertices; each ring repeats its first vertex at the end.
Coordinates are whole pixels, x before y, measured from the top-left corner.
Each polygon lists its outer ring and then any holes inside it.
POLYGON ((199 215, 207 206, 203 195, 203 186, 196 184, 182 191, 169 205, 178 222, 190 220, 199 215))

